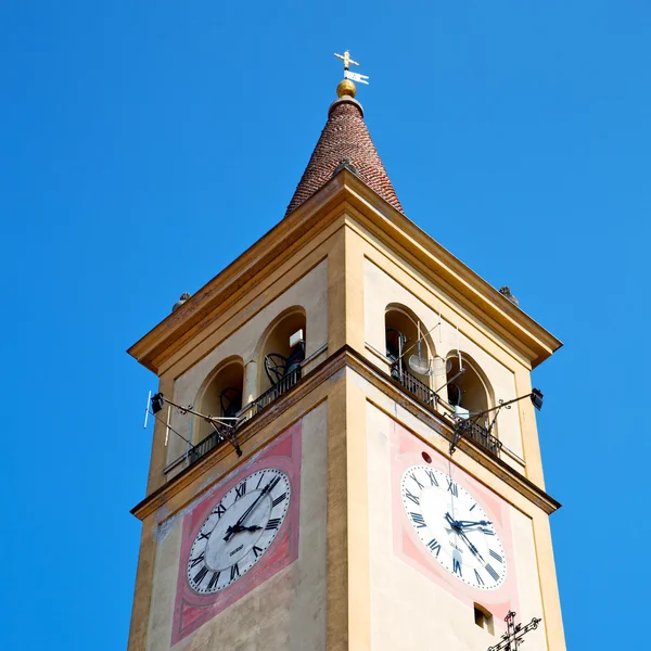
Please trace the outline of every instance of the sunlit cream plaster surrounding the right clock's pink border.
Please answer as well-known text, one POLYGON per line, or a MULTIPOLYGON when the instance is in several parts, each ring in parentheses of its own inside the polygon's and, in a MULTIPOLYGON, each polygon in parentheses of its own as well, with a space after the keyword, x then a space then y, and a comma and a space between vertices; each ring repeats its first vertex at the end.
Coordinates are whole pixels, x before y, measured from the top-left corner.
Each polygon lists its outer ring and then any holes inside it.
MULTIPOLYGON (((391 417, 370 403, 367 404, 366 413, 372 624, 370 649, 476 651, 497 643, 497 635, 492 636, 475 625, 472 605, 460 601, 394 553, 395 525, 391 505, 395 487, 391 477, 391 417)), ((433 432, 430 436, 438 438, 433 432)), ((522 610, 519 615, 528 621, 544 613, 532 519, 514 507, 510 508, 510 515, 515 547, 511 566, 514 566, 518 575, 522 610)), ((478 591, 480 603, 481 595, 478 591)), ((546 620, 537 631, 527 636, 526 644, 531 651, 564 649, 562 639, 553 640, 553 643, 548 639, 546 620)))

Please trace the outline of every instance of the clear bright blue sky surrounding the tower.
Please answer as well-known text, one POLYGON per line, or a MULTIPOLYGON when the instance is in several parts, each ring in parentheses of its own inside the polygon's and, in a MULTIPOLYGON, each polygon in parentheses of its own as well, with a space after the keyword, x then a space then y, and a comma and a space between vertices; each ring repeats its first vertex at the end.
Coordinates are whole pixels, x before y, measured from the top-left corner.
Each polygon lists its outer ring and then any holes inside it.
POLYGON ((642 0, 4 0, 0 647, 126 648, 155 382, 125 349, 283 216, 346 48, 407 215, 565 343, 534 383, 569 648, 643 626, 650 30, 642 0))

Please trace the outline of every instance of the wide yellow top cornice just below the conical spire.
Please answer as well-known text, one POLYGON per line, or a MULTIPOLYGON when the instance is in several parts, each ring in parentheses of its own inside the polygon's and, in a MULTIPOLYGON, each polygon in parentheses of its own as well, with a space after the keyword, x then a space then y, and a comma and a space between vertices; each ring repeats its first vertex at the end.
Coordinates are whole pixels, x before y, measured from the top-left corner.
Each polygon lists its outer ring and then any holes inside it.
POLYGON ((181 348, 202 328, 209 315, 232 306, 259 275, 268 275, 285 263, 307 239, 352 206, 387 246, 409 252, 411 264, 432 282, 444 281, 464 299, 477 318, 497 323, 502 333, 532 357, 537 366, 562 344, 551 333, 502 296, 480 276, 441 246, 410 219, 396 210, 363 181, 342 169, 293 213, 199 290, 179 309, 133 344, 128 353, 158 374, 161 363, 181 348))

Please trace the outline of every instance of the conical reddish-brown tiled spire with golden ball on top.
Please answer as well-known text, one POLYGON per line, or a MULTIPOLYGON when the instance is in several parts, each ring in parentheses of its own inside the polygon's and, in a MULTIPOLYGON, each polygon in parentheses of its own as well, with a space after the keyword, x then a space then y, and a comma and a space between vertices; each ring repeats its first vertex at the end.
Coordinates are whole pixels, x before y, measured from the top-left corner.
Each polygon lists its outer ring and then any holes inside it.
POLYGON ((393 184, 363 122, 363 108, 355 99, 355 84, 344 79, 339 99, 328 111, 328 122, 296 187, 285 217, 324 186, 335 170, 347 167, 394 208, 403 212, 393 184))

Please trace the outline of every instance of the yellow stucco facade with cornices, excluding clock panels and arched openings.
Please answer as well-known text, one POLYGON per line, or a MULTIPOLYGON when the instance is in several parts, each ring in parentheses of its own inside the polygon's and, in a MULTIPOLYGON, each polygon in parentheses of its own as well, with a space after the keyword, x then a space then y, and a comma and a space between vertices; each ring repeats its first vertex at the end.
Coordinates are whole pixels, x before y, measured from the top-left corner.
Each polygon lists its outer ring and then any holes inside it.
MULTIPOLYGON (((224 444, 190 464, 186 444, 156 422, 146 496, 133 509, 143 534, 130 651, 423 649, 434 639, 441 648, 470 650, 496 643, 499 609, 490 635, 475 625, 472 600, 460 597, 439 567, 421 571, 396 548, 396 527, 405 525, 394 503, 396 427, 503 505, 516 592, 511 603, 523 618, 544 621, 527 647, 565 648, 548 521, 559 505, 545 493, 533 406, 522 400, 500 414, 499 457, 461 439, 450 459, 454 430, 441 405, 423 405, 392 378, 387 306, 404 306, 424 331, 433 329, 430 346, 437 355, 461 349, 481 368, 492 405, 531 392, 532 368, 560 345, 343 169, 130 349, 181 405, 199 399, 225 361, 244 367, 242 457, 224 444), (247 412, 265 388, 265 337, 292 310, 305 317, 301 381, 247 412), (295 560, 270 577, 260 571, 240 598, 173 641, 179 566, 188 561, 183 516, 243 476, 297 424, 295 560)), ((441 379, 432 382, 441 390, 441 379)), ((171 419, 197 443, 188 416, 173 411, 171 419)), ((475 601, 490 610, 480 597, 475 601)))

